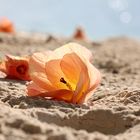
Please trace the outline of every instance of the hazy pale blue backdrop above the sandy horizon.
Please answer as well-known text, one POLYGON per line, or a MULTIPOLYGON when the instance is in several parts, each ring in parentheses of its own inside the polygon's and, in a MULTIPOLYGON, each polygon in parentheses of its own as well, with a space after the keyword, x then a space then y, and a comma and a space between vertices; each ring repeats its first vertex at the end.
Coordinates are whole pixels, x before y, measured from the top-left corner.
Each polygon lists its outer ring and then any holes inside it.
POLYGON ((0 17, 17 30, 70 36, 82 26, 91 39, 140 36, 140 0, 0 0, 0 17))

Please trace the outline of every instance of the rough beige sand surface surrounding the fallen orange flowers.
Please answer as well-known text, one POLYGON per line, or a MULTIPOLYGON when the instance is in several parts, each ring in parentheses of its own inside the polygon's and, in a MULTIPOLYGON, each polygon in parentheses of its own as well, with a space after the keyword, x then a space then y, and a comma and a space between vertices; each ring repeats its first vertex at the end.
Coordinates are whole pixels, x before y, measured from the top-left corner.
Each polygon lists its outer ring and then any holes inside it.
MULTIPOLYGON (((71 39, 0 34, 0 57, 54 49, 71 39)), ((74 40, 73 40, 74 41, 74 40)), ((0 79, 0 140, 140 140, 140 42, 80 42, 102 82, 86 105, 26 96, 24 81, 0 79)))

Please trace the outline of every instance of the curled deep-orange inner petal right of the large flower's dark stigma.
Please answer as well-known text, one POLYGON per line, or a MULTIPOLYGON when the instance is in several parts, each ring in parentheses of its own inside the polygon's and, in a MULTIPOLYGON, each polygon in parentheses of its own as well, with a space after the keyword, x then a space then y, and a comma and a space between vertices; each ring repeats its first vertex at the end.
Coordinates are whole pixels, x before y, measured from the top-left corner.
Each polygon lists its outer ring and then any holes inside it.
POLYGON ((78 100, 89 88, 88 69, 76 53, 66 54, 60 65, 69 82, 75 84, 72 102, 78 103, 78 100))

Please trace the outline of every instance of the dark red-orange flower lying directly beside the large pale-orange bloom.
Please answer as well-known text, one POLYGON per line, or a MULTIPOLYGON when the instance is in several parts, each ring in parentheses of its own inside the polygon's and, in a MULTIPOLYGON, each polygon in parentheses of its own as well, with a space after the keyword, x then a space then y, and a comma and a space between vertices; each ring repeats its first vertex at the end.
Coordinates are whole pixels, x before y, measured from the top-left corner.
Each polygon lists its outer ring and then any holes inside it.
POLYGON ((6 55, 6 60, 0 64, 0 71, 5 73, 7 78, 30 80, 29 58, 6 55))

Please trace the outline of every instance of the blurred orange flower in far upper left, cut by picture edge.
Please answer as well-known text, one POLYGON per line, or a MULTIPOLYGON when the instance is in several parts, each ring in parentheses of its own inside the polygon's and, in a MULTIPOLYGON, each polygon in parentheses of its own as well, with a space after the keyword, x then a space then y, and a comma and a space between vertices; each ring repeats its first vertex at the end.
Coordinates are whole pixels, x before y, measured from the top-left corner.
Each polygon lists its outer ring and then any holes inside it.
POLYGON ((14 32, 13 23, 7 18, 1 18, 0 19, 0 32, 13 33, 14 32))

